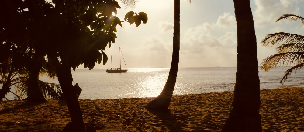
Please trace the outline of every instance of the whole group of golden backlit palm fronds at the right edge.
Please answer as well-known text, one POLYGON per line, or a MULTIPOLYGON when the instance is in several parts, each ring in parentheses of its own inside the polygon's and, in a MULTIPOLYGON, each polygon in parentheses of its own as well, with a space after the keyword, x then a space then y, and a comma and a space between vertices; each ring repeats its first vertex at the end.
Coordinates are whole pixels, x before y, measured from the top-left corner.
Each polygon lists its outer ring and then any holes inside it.
MULTIPOLYGON (((302 23, 304 21, 304 18, 300 16, 285 14, 279 17, 276 22, 282 19, 289 21, 302 21, 302 23)), ((268 56, 263 60, 261 63, 261 69, 268 71, 275 68, 278 64, 281 66, 292 66, 292 68, 285 71, 285 75, 280 83, 284 83, 291 75, 292 71, 295 72, 304 68, 304 36, 275 32, 267 34, 261 41, 261 44, 266 47, 281 44, 276 48, 277 54, 268 56)))

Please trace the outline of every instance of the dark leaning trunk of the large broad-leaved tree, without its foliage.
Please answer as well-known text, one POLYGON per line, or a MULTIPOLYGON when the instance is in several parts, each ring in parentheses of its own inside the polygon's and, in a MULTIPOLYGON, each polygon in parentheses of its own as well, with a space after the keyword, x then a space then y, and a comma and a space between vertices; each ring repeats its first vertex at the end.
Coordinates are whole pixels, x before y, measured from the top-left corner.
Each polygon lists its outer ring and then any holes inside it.
POLYGON ((71 67, 60 64, 57 57, 52 58, 52 56, 50 56, 50 61, 54 64, 55 72, 57 74, 62 93, 66 99, 67 107, 70 112, 72 126, 67 129, 75 132, 85 132, 85 125, 83 122, 78 97, 74 93, 73 89, 71 67))

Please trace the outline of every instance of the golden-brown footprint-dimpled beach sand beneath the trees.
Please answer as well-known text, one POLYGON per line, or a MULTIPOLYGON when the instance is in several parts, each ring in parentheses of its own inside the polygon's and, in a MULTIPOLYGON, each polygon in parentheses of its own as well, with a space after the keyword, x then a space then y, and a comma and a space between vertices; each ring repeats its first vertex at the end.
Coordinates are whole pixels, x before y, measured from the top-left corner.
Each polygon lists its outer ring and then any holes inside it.
MULTIPOLYGON (((263 131, 304 131, 304 88, 261 90, 263 131)), ((231 110, 233 92, 173 96, 171 111, 145 109, 153 98, 79 100, 86 126, 97 131, 220 131, 231 110)), ((0 131, 61 131, 70 121, 66 103, 0 101, 0 131)))

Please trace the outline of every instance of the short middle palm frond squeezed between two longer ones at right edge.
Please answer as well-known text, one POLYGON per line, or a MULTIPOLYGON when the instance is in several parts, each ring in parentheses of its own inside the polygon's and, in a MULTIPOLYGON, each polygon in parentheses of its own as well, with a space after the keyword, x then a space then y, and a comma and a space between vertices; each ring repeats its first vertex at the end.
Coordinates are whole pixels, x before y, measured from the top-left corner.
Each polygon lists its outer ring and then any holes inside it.
POLYGON ((304 43, 283 43, 276 48, 277 53, 304 52, 304 43))

